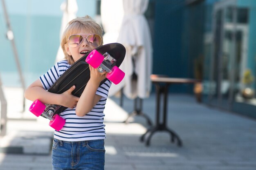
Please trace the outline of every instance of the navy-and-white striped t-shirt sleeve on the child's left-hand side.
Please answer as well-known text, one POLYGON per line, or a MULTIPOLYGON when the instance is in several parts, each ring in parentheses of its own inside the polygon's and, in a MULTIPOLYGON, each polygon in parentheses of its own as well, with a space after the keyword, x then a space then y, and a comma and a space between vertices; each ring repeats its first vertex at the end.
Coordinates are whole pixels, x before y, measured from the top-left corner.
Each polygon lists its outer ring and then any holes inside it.
POLYGON ((60 77, 60 73, 58 63, 56 63, 54 66, 52 66, 52 68, 49 69, 49 71, 47 71, 47 73, 41 75, 39 79, 43 85, 43 88, 48 90, 54 84, 54 82, 56 82, 58 77, 60 77))

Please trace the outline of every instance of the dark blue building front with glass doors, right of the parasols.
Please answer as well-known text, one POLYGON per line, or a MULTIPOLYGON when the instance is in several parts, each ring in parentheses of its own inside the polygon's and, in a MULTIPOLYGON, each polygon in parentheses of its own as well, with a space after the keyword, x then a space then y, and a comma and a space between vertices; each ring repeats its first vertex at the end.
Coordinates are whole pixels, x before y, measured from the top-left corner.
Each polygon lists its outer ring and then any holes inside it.
MULTIPOLYGON (((256 118, 256 1, 151 0, 150 5, 153 73, 201 79, 202 102, 256 118)), ((184 85, 171 91, 193 90, 184 85)))

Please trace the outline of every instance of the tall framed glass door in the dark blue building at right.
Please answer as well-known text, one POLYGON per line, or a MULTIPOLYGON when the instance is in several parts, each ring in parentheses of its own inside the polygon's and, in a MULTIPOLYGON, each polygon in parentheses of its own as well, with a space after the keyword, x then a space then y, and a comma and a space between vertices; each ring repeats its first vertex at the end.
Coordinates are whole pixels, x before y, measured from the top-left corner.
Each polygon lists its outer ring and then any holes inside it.
POLYGON ((218 2, 213 10, 209 104, 228 110, 231 110, 234 95, 239 91, 247 57, 248 29, 246 24, 240 23, 241 16, 238 15, 244 9, 237 8, 235 2, 218 2))

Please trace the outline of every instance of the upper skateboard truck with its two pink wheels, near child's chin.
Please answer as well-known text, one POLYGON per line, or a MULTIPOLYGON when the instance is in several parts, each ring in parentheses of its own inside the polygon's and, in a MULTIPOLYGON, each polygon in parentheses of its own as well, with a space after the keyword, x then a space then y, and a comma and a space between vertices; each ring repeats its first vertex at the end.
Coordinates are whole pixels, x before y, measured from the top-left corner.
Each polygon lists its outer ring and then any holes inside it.
POLYGON ((119 84, 122 79, 124 79, 125 73, 121 71, 115 64, 116 61, 109 53, 104 53, 103 55, 97 50, 92 50, 85 62, 90 64, 93 68, 98 68, 98 71, 103 73, 107 71, 107 78, 114 84, 119 84))

